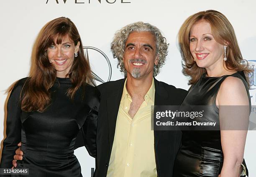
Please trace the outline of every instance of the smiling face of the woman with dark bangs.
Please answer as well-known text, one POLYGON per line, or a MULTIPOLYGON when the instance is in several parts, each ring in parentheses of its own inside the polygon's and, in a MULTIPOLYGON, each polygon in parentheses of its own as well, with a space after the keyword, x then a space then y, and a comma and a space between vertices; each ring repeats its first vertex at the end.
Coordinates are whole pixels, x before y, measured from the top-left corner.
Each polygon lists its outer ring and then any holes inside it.
POLYGON ((65 77, 74 61, 74 53, 78 52, 80 42, 74 45, 74 41, 65 36, 61 44, 52 44, 47 49, 49 61, 54 65, 57 77, 65 77))

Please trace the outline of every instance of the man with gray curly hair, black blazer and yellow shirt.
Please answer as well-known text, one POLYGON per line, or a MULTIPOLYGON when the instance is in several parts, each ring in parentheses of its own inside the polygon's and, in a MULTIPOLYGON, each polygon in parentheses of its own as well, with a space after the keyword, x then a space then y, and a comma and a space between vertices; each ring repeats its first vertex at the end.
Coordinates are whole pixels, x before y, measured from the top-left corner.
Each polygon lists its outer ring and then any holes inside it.
POLYGON ((98 86, 95 177, 172 177, 181 134, 151 131, 151 106, 180 105, 187 94, 154 78, 167 49, 165 37, 149 23, 115 33, 111 50, 125 78, 98 86))

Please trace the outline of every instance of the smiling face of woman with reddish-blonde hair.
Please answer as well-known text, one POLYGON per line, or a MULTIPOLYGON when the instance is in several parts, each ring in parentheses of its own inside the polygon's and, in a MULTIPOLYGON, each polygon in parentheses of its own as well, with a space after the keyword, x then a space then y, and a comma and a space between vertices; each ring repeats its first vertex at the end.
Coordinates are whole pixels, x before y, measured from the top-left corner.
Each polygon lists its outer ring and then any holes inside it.
POLYGON ((203 20, 192 26, 189 36, 190 52, 198 67, 208 71, 224 68, 224 45, 218 43, 212 35, 210 23, 203 20))

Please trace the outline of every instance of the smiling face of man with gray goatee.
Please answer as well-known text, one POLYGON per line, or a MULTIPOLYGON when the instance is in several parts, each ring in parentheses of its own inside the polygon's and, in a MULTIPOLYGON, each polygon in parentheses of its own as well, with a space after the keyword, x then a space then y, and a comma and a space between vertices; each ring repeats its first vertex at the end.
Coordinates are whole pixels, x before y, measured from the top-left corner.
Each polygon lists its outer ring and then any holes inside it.
POLYGON ((150 32, 132 32, 125 43, 123 56, 127 77, 153 77, 154 65, 158 64, 156 41, 150 32))

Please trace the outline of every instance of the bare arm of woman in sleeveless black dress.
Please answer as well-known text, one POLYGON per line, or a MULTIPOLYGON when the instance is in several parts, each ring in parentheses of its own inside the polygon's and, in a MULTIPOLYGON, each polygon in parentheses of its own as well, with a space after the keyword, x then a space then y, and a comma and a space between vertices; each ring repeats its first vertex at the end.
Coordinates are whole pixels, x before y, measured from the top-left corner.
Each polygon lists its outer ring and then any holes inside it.
POLYGON ((249 120, 249 100, 242 80, 227 77, 220 86, 216 104, 220 109, 220 135, 224 155, 220 177, 238 177, 249 120))

